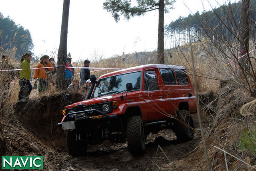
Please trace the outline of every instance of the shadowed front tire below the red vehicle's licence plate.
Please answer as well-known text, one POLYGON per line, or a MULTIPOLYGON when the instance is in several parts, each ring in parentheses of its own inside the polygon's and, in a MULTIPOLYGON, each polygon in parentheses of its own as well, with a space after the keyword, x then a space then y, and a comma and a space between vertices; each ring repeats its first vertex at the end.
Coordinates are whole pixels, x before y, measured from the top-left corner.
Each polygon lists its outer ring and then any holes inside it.
POLYGON ((70 155, 79 156, 87 152, 87 143, 85 140, 76 140, 76 131, 67 130, 66 140, 70 155))

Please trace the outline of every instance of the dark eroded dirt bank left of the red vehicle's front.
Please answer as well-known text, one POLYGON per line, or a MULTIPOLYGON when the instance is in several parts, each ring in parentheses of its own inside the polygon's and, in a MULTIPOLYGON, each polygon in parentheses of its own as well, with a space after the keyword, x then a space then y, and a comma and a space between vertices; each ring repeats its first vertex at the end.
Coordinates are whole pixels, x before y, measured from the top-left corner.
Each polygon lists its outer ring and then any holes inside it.
MULTIPOLYGON (((73 102, 84 98, 82 94, 71 93, 73 102)), ((1 119, 2 136, 6 142, 5 153, 42 155, 52 149, 65 149, 64 131, 56 127, 63 117, 62 110, 65 105, 64 92, 14 104, 13 111, 4 113, 1 119)))

